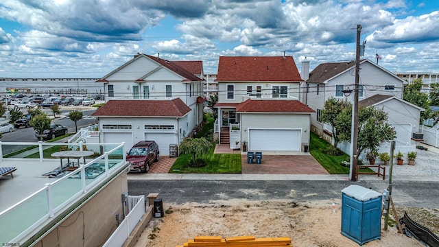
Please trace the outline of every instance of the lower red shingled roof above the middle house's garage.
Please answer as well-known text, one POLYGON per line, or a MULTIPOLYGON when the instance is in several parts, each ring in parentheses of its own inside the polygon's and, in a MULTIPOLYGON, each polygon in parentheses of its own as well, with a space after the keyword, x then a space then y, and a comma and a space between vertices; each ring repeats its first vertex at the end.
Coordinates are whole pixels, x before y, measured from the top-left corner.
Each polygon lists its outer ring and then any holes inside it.
POLYGON ((247 99, 236 106, 237 113, 315 113, 298 100, 247 99))

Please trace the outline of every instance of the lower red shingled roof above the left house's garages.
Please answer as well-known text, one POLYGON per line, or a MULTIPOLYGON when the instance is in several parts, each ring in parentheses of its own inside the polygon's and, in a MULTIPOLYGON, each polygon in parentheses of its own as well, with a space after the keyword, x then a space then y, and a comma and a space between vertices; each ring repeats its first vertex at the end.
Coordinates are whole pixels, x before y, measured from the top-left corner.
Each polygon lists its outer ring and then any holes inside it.
POLYGON ((95 117, 182 117, 191 108, 180 98, 172 100, 109 100, 92 114, 95 117))

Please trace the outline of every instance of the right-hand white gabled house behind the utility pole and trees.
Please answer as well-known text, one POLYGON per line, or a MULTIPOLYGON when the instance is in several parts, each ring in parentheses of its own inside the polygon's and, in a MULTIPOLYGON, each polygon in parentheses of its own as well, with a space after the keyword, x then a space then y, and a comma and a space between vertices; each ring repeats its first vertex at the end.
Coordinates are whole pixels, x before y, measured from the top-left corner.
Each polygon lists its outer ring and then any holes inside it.
MULTIPOLYGON (((410 145, 412 133, 418 132, 420 111, 423 108, 403 100, 405 81, 370 60, 361 60, 359 73, 359 102, 364 106, 383 108, 388 122, 397 132, 396 145, 410 145)), ((354 93, 348 93, 355 85, 355 61, 329 62, 318 65, 309 73, 303 102, 317 115, 311 117, 311 130, 327 141, 332 141, 331 126, 320 122, 324 102, 331 97, 353 102, 354 93)), ((412 147, 409 147, 410 149, 412 147)), ((343 148, 348 152, 348 148, 343 148)), ((402 152, 402 151, 401 151, 402 152)), ((349 152, 348 152, 349 153, 349 152)))

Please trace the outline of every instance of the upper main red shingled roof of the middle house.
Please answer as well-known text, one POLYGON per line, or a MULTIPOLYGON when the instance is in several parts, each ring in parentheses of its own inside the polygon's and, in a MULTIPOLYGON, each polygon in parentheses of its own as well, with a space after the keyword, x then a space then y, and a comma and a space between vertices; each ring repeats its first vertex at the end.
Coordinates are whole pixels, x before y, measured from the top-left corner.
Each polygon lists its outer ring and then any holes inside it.
POLYGON ((292 56, 220 56, 217 82, 302 82, 292 56))

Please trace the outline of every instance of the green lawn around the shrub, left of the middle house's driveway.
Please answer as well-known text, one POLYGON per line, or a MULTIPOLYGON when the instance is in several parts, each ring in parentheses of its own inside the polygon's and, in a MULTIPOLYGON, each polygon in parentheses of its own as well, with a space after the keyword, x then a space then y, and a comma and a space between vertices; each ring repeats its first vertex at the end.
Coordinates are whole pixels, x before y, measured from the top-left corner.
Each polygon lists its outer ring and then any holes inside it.
POLYGON ((215 144, 209 153, 200 158, 206 162, 205 167, 188 167, 192 156, 181 154, 178 156, 174 165, 169 169, 169 173, 198 173, 198 174, 240 174, 241 173, 241 154, 213 154, 215 144))

